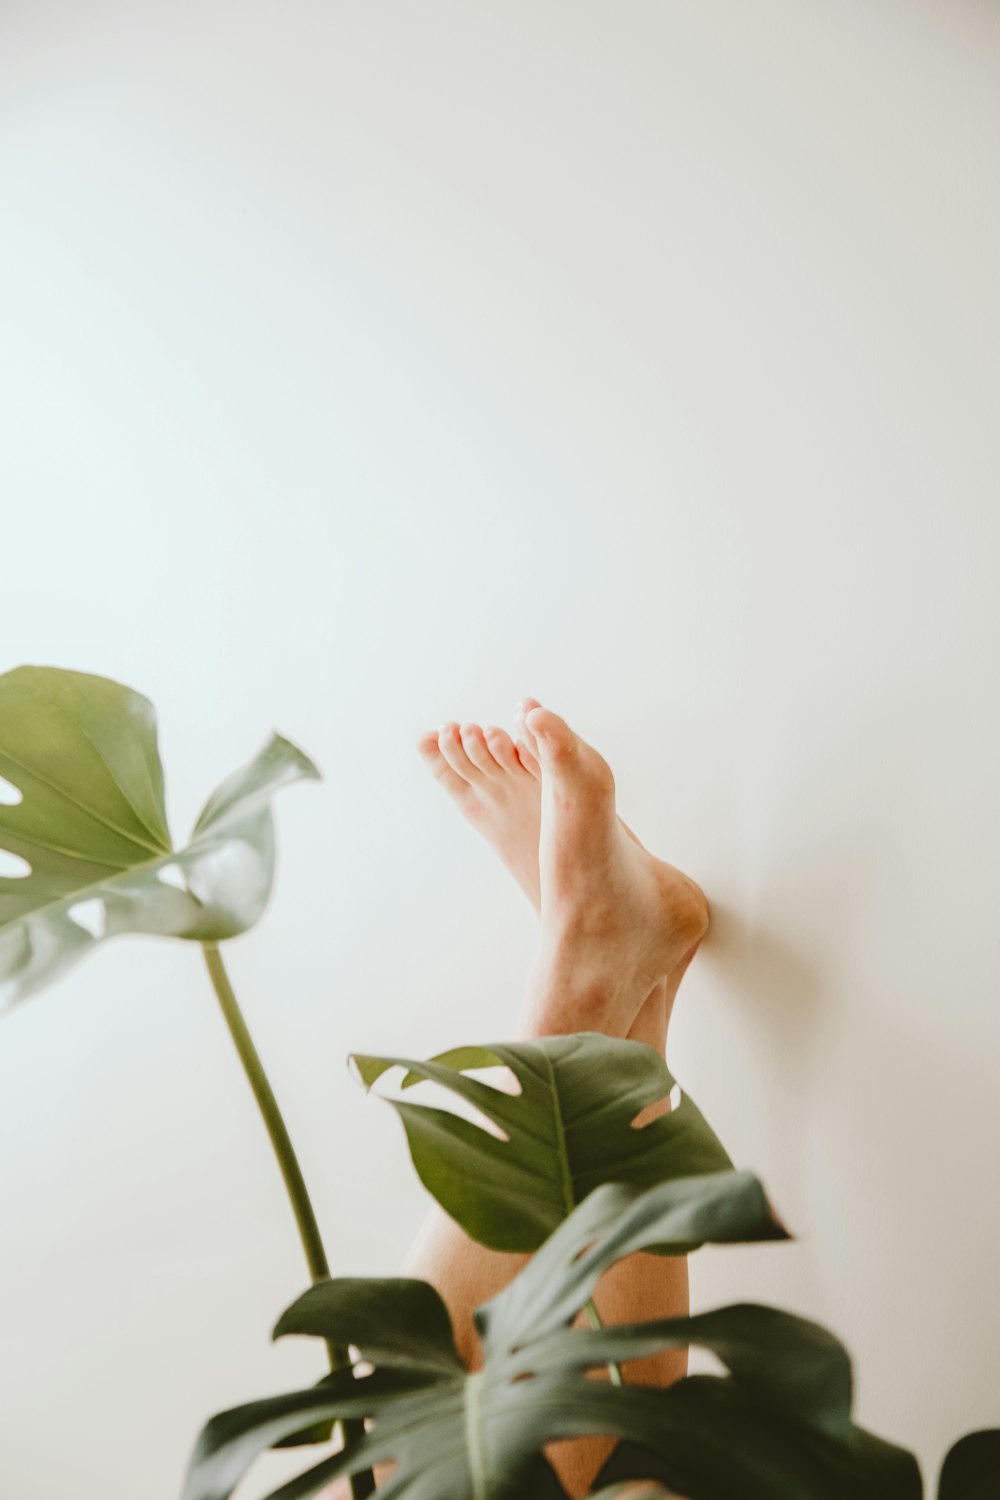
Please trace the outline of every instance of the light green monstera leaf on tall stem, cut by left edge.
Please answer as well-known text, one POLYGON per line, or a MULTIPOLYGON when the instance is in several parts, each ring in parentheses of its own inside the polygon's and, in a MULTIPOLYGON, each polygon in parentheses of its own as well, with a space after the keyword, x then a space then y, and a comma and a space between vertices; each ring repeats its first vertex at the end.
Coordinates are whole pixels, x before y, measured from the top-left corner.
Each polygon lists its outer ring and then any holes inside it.
POLYGON ((121 933, 246 932, 274 874, 270 798, 318 774, 276 735, 174 849, 145 698, 55 668, 0 676, 0 1010, 121 933))

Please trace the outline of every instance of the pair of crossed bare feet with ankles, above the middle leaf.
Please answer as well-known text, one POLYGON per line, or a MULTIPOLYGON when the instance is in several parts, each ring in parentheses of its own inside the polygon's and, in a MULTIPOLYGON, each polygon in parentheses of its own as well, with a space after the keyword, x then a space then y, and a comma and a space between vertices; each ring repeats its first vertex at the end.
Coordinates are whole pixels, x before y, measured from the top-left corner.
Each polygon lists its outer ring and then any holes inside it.
MULTIPOLYGON (((565 1023, 556 1018, 555 1029, 594 1024, 636 1035, 642 1010, 642 1032, 652 1041, 663 1022, 649 1024, 651 1006, 643 1010, 636 994, 645 986, 652 1002, 672 974, 679 984, 681 962, 687 966, 708 928, 705 896, 618 819, 607 762, 564 720, 528 698, 517 706, 517 728, 514 744, 502 729, 448 723, 424 735, 420 752, 543 916, 546 1028, 553 1029, 553 969, 567 962, 574 1000, 567 998, 565 1023), (594 994, 603 996, 600 1005, 594 999, 589 1020, 579 993, 588 960, 594 994), (618 980, 609 998, 612 970, 618 980)), ((676 992, 676 984, 669 988, 676 992)), ((658 1002, 655 1010, 660 1014, 658 1002)), ((534 1030, 540 1023, 529 1006, 526 1024, 534 1030)))

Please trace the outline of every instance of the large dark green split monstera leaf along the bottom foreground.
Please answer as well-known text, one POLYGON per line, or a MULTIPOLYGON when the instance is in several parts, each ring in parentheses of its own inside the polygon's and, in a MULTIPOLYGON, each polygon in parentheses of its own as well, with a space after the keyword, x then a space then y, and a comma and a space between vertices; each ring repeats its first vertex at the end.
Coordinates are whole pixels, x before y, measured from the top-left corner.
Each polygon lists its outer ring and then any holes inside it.
POLYGON ((639 1478, 690 1500, 919 1497, 909 1455, 877 1444, 870 1462, 850 1420, 847 1354, 813 1323, 736 1306, 627 1328, 571 1326, 600 1275, 636 1250, 781 1236, 760 1184, 747 1173, 646 1191, 598 1188, 480 1310, 483 1368, 474 1374, 462 1366, 447 1310, 426 1282, 319 1282, 276 1332, 357 1347, 360 1378, 351 1384, 340 1371, 309 1390, 214 1418, 198 1442, 184 1500, 228 1500, 259 1452, 307 1420, 333 1416, 370 1425, 271 1500, 307 1500, 375 1462, 394 1464, 379 1491, 387 1500, 556 1500, 562 1490, 544 1444, 594 1432, 625 1438, 658 1466, 601 1479, 609 1488, 639 1478), (690 1342, 711 1348, 730 1372, 666 1390, 589 1376, 607 1359, 690 1342))

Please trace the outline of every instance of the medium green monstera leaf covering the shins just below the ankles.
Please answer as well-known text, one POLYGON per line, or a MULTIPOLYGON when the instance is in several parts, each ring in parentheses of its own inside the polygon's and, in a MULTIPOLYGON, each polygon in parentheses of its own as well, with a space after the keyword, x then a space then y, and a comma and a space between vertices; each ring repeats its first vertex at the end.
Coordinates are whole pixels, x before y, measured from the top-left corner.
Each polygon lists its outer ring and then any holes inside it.
POLYGON ((642 1042, 577 1032, 460 1047, 430 1062, 358 1054, 352 1062, 369 1089, 390 1068, 403 1068, 403 1094, 435 1083, 484 1120, 391 1098, 421 1182, 472 1239, 492 1250, 537 1250, 604 1182, 648 1188, 732 1167, 687 1096, 660 1119, 634 1125, 675 1089, 663 1058, 642 1042), (469 1077, 498 1065, 510 1068, 517 1094, 469 1077))

